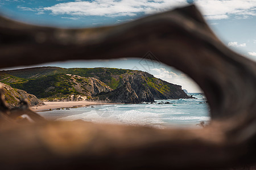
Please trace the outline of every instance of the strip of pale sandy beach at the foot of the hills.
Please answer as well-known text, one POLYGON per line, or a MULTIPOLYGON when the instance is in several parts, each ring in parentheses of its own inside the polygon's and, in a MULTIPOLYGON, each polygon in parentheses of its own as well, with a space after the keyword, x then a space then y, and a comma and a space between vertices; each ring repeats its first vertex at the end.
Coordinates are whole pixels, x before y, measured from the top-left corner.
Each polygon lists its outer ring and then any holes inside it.
POLYGON ((31 107, 31 109, 32 111, 35 111, 35 112, 46 112, 46 111, 52 111, 52 110, 62 109, 62 108, 72 108, 72 107, 78 108, 78 107, 88 107, 89 105, 106 105, 106 104, 122 104, 122 103, 81 100, 81 101, 48 101, 48 102, 44 102, 44 104, 46 105, 34 106, 34 107, 31 107))

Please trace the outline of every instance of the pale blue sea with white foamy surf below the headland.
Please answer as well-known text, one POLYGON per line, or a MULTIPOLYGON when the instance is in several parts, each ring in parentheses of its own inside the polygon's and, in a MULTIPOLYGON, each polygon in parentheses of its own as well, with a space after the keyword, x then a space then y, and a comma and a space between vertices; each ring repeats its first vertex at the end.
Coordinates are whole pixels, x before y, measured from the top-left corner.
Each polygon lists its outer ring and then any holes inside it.
POLYGON ((191 93, 197 99, 155 100, 156 103, 108 104, 39 112, 56 121, 83 120, 97 123, 146 125, 156 128, 174 126, 197 127, 210 121, 209 107, 204 94, 191 93), (158 104, 158 103, 170 104, 158 104))

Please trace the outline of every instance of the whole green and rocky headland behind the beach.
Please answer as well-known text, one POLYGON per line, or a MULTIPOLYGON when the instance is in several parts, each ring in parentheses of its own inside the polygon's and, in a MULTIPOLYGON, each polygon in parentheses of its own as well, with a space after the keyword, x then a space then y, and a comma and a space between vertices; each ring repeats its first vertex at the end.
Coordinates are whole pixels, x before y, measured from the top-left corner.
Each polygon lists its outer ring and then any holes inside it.
POLYGON ((191 98, 181 86, 138 70, 35 67, 0 71, 0 78, 0 82, 47 100, 72 100, 71 95, 122 103, 191 98))

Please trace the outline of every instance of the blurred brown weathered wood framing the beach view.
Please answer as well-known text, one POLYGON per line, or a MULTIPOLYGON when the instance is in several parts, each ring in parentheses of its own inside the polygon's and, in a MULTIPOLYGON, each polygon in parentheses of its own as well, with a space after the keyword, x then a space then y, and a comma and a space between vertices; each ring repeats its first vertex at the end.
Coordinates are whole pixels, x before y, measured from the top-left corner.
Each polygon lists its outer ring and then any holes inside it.
MULTIPOLYGON (((0 68, 67 59, 142 58, 148 51, 199 84, 209 101, 210 126, 21 126, 11 119, 14 125, 1 125, 0 167, 205 169, 255 163, 256 63, 223 45, 195 6, 88 29, 38 27, 0 18, 0 68)), ((1 108, 1 119, 10 112, 1 108)))

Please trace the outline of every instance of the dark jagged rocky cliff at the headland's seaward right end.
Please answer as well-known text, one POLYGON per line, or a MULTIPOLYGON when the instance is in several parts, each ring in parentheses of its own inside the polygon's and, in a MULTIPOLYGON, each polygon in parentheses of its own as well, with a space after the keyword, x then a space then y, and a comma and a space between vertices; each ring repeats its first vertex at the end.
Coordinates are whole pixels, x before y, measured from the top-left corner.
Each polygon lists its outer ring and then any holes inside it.
POLYGON ((155 78, 143 71, 122 75, 119 84, 116 90, 97 96, 102 100, 108 97, 114 102, 133 104, 154 102, 157 99, 193 99, 181 90, 181 86, 155 78))

